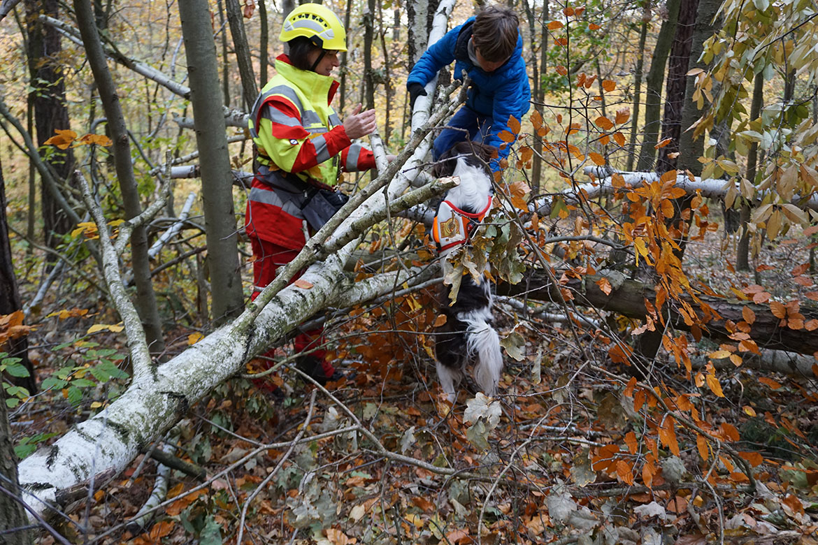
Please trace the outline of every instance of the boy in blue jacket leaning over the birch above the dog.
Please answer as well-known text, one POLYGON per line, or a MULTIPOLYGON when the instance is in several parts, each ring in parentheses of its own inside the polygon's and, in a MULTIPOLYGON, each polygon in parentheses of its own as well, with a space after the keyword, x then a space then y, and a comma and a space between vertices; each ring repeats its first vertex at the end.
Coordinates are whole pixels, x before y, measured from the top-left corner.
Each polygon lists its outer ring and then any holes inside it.
POLYGON ((418 96, 426 95, 424 87, 434 74, 452 61, 454 77, 462 79, 465 70, 471 87, 465 105, 434 140, 434 160, 468 138, 499 150, 499 156, 489 163, 492 172, 498 172, 510 143, 497 135, 509 130, 509 116, 521 121, 531 101, 517 14, 506 7, 486 7, 429 47, 407 79, 412 107, 418 96))

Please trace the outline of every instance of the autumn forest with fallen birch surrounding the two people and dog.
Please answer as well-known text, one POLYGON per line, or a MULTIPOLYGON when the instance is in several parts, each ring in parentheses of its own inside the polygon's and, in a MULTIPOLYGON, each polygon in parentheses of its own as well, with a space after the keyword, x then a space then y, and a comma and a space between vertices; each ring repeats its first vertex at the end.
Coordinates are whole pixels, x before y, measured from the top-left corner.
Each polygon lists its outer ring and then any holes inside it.
POLYGON ((532 109, 443 275, 461 89, 404 83, 479 4, 327 2, 379 172, 248 304, 293 5, 0 2, 0 543, 816 543, 814 2, 507 3, 532 109), (487 261, 501 394, 447 404, 437 291, 487 261), (305 321, 335 391, 289 369, 305 321))

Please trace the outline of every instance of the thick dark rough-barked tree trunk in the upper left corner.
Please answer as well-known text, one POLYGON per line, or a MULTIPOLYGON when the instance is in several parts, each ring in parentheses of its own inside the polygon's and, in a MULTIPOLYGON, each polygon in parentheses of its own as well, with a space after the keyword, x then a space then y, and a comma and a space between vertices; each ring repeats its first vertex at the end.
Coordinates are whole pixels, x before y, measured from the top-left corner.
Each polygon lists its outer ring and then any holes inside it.
MULTIPOLYGON (((34 102, 34 126, 37 128, 38 145, 54 136, 56 129, 70 129, 68 108, 65 102, 65 80, 60 60, 62 51, 60 34, 51 25, 43 25, 39 14, 59 19, 56 0, 25 0, 28 17, 29 70, 31 74, 31 96, 34 102)), ((58 181, 68 181, 74 171, 74 152, 54 150, 50 160, 52 172, 58 181)), ((63 235, 73 228, 70 218, 47 190, 45 184, 40 194, 43 213, 45 243, 55 248, 57 235, 63 235)), ((53 260, 51 254, 47 257, 53 260)))

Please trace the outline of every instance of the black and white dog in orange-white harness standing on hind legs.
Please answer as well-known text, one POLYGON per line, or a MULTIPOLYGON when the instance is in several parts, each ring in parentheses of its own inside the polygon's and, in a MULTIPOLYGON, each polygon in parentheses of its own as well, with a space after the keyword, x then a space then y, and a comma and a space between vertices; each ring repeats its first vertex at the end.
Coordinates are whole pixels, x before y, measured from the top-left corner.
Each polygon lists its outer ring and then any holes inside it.
MULTIPOLYGON (((492 207, 492 172, 487 162, 492 146, 461 142, 435 164, 434 176, 457 176, 460 184, 443 197, 434 218, 434 239, 440 257, 447 257, 469 243, 470 231, 492 207)), ((452 286, 444 286, 441 312, 446 323, 435 331, 435 353, 440 384, 450 401, 467 364, 474 363, 474 380, 486 395, 495 395, 503 369, 500 337, 492 327, 492 293, 488 278, 475 282, 462 277, 456 301, 449 304, 452 286)))

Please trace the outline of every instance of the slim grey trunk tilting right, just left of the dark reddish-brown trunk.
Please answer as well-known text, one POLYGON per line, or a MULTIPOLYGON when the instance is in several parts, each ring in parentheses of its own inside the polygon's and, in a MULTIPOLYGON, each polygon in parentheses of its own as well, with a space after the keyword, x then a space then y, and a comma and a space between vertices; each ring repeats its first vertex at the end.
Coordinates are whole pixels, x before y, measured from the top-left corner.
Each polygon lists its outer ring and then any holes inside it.
POLYGON ((662 105, 662 82, 664 81, 667 54, 676 34, 676 21, 679 16, 681 0, 667 0, 667 19, 662 21, 662 27, 656 38, 653 60, 650 61, 648 77, 645 78, 645 127, 642 137, 642 148, 636 170, 647 172, 654 168, 656 143, 658 142, 661 122, 659 113, 662 105))

